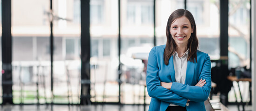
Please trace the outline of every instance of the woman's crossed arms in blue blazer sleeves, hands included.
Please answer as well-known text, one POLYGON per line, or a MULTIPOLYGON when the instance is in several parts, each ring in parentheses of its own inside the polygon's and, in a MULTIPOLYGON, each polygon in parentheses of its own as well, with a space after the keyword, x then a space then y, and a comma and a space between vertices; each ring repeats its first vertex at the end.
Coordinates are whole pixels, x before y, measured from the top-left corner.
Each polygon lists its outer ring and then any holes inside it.
POLYGON ((158 75, 158 61, 156 48, 154 47, 149 54, 147 66, 147 90, 150 97, 185 106, 187 101, 205 101, 211 89, 210 58, 205 56, 199 82, 195 86, 185 85, 177 82, 161 82, 158 75))

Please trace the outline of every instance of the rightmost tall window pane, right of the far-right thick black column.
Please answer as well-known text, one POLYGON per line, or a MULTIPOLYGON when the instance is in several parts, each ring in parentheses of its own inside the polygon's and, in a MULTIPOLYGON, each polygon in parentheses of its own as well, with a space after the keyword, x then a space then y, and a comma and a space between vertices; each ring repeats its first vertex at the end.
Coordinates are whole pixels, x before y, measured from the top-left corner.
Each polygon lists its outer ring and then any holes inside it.
POLYGON ((229 0, 228 67, 250 67, 250 0, 229 0))

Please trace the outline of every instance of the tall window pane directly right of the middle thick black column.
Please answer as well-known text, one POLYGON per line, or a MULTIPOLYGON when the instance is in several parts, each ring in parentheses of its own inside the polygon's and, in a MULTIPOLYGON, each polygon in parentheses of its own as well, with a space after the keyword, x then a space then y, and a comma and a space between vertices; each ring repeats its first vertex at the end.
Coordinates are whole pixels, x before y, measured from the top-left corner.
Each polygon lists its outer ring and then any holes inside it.
POLYGON ((118 0, 90 0, 92 102, 118 102, 118 0))

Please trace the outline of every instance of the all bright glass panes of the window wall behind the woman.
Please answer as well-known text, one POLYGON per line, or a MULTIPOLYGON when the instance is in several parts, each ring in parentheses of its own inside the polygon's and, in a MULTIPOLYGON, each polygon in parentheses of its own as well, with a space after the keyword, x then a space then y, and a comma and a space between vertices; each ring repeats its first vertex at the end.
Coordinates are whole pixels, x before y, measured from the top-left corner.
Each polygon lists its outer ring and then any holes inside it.
MULTIPOLYGON (((55 104, 80 103, 83 51, 80 1, 53 0, 51 12, 49 0, 12 0, 14 104, 51 103, 52 94, 55 104), (54 36, 53 92, 50 73, 51 19, 54 36)), ((144 94, 144 86, 140 83, 145 82, 148 53, 154 42, 157 46, 166 44, 167 20, 174 10, 185 7, 185 1, 196 22, 199 50, 208 53, 211 60, 220 59, 220 0, 120 0, 121 47, 118 46, 118 0, 90 0, 92 102, 118 102, 118 83, 121 79, 121 103, 143 104, 140 97, 144 94), (153 13, 154 5, 156 15, 153 13), (119 48, 121 64, 118 62, 119 48)), ((228 10, 228 68, 248 69, 250 1, 230 0, 228 10)), ((0 66, 1 54, 0 51, 0 66)), ((228 96, 231 97, 229 102, 232 102, 234 93, 230 92, 228 96)), ((147 96, 146 104, 149 102, 147 96)))

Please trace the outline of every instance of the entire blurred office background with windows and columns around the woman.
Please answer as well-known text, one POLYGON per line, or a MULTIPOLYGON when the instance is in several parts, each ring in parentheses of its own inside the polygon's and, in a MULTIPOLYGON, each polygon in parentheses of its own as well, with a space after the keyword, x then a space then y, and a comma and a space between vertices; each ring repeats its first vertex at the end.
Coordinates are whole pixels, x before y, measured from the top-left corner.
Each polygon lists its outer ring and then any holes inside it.
POLYGON ((0 104, 12 111, 147 110, 148 53, 166 44, 167 19, 183 8, 194 16, 199 50, 211 58, 210 99, 230 111, 252 110, 254 2, 1 0, 0 104))

